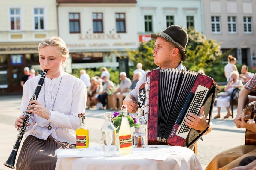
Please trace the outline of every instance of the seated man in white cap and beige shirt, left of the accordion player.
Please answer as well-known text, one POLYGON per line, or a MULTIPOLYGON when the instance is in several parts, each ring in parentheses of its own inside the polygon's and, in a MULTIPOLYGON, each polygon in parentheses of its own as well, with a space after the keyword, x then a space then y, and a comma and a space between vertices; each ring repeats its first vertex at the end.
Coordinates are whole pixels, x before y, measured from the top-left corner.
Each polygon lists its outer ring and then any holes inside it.
POLYGON ((111 95, 113 99, 113 108, 111 110, 117 110, 117 98, 119 100, 119 107, 123 105, 123 98, 125 98, 130 90, 130 86, 132 84, 131 80, 126 77, 125 72, 120 72, 120 86, 119 88, 111 95))

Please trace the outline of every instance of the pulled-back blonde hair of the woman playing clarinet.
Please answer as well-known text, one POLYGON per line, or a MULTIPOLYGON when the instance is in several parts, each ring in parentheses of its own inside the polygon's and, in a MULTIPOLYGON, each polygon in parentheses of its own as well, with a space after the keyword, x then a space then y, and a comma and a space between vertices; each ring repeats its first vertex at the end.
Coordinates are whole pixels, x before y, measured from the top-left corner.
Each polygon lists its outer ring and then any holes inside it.
MULTIPOLYGON (((45 38, 41 43, 38 45, 38 53, 39 51, 47 46, 56 47, 59 51, 62 57, 68 59, 69 58, 69 48, 67 47, 66 43, 60 38, 60 37, 48 37, 45 38)), ((62 64, 62 67, 64 68, 66 66, 65 63, 62 64)))

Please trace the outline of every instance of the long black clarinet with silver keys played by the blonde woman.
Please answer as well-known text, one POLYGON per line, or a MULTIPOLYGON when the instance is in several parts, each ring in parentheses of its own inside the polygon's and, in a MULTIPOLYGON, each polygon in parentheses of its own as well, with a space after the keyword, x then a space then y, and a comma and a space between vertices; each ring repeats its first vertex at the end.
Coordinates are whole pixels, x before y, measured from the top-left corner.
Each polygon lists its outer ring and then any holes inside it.
MULTIPOLYGON (((42 75, 40 77, 40 80, 38 81, 38 84, 37 84, 36 89, 33 93, 33 96, 30 98, 30 101, 37 100, 38 95, 41 91, 41 88, 44 84, 44 79, 45 79, 46 73, 47 73, 47 70, 44 70, 44 72, 42 73, 42 75)), ((32 104, 35 104, 35 103, 32 103, 32 104)), ((32 105, 32 104, 29 104, 29 106, 32 105)), ((29 108, 27 107, 27 110, 28 109, 29 108)), ((22 123, 23 125, 18 129, 19 133, 17 135, 17 140, 16 140, 15 144, 13 145, 13 149, 12 149, 12 152, 11 152, 8 160, 4 163, 5 166, 7 166, 9 168, 13 168, 13 169, 15 169, 15 167, 14 167, 15 159, 16 159, 16 156, 17 156, 18 149, 20 147, 20 142, 23 138, 23 135, 25 133, 27 125, 29 124, 29 119, 31 117, 31 112, 24 111, 23 115, 25 116, 23 118, 23 123, 22 123)))

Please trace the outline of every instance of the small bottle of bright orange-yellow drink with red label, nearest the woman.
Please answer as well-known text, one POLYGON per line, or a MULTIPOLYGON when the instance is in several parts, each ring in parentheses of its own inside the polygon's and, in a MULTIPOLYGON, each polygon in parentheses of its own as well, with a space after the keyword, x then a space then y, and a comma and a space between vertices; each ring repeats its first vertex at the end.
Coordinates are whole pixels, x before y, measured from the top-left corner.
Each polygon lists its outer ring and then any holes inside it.
POLYGON ((76 148, 88 148, 89 147, 89 130, 84 127, 85 113, 78 113, 80 126, 75 131, 76 135, 76 148))

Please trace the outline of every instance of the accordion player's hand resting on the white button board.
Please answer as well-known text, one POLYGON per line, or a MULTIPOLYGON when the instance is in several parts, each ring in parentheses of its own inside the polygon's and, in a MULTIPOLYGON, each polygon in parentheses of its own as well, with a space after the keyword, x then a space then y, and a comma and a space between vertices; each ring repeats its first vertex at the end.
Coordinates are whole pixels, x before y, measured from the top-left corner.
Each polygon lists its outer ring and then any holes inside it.
POLYGON ((204 106, 202 106, 200 109, 200 116, 188 113, 187 117, 185 118, 185 124, 195 130, 206 130, 208 122, 206 121, 206 118, 204 116, 203 108, 204 106))

